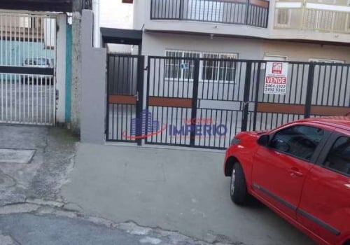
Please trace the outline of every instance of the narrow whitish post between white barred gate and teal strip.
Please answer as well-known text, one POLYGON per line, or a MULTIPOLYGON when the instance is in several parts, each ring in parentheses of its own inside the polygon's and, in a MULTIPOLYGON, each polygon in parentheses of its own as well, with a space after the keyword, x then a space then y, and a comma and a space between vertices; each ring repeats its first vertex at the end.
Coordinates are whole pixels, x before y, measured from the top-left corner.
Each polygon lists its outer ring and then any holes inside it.
POLYGON ((66 15, 59 14, 57 18, 57 64, 56 64, 56 90, 58 102, 56 123, 64 123, 66 111, 66 15))

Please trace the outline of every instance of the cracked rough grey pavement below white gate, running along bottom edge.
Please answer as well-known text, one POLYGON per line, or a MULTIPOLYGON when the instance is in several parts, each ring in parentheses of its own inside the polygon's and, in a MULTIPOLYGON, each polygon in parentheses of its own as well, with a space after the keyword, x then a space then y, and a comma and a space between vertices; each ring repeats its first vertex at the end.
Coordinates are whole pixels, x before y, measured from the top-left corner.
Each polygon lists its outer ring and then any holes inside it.
POLYGON ((204 241, 134 221, 118 223, 66 201, 61 188, 74 167, 77 140, 59 128, 0 125, 0 148, 35 150, 28 163, 0 163, 0 245, 241 244, 220 236, 204 241))

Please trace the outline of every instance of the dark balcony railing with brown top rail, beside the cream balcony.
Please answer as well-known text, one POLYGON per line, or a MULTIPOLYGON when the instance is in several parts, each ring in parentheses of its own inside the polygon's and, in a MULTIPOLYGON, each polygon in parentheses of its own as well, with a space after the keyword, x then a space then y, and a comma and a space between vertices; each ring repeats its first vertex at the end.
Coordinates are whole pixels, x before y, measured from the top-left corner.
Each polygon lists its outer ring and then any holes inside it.
POLYGON ((187 20, 267 28, 265 0, 151 0, 151 20, 187 20))

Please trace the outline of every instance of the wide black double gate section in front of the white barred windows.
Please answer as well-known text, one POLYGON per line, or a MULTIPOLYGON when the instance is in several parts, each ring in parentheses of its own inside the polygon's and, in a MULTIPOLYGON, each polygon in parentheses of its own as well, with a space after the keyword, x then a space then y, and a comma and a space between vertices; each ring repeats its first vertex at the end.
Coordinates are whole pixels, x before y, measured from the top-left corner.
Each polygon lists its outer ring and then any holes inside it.
POLYGON ((250 63, 232 59, 148 57, 146 144, 225 148, 246 130, 250 63), (243 80, 243 82, 241 82, 243 80), (245 110, 245 111, 244 111, 245 110), (166 129, 159 132, 159 129, 166 129))

